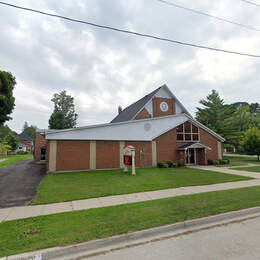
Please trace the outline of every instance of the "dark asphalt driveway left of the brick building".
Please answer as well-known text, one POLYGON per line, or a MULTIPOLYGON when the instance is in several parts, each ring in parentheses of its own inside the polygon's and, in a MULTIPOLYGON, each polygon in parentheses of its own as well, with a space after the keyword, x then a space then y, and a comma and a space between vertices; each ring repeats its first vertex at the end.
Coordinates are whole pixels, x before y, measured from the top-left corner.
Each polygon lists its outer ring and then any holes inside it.
POLYGON ((45 175, 45 165, 25 159, 0 168, 0 208, 28 204, 45 175))

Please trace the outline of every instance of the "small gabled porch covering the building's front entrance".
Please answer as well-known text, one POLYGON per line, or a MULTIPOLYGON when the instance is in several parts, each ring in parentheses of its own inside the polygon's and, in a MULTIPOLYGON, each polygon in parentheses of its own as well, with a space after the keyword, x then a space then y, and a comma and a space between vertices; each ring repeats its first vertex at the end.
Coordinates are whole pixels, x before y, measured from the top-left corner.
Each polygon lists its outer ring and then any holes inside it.
POLYGON ((177 148, 179 158, 184 165, 207 165, 207 150, 210 147, 201 143, 186 143, 177 148))

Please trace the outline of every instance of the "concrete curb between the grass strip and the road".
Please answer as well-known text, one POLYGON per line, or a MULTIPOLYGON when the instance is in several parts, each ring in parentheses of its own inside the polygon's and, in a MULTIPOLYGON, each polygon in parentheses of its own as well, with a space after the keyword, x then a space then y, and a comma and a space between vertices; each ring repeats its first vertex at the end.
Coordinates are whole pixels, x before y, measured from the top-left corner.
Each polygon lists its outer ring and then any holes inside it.
POLYGON ((260 207, 232 211, 210 217, 187 220, 175 224, 136 231, 109 238, 93 240, 81 244, 43 249, 20 255, 0 258, 0 260, 49 260, 49 259, 81 259, 83 256, 105 254, 127 247, 134 247, 163 239, 168 239, 190 232, 227 225, 247 219, 260 217, 260 207))

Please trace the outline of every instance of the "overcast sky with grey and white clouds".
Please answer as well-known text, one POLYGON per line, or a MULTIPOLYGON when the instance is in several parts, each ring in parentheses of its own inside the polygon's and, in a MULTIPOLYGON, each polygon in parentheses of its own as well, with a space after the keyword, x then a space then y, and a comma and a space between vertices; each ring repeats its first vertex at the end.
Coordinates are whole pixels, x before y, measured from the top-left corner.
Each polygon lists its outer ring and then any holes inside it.
MULTIPOLYGON (((171 0, 169 0, 171 1, 171 0)), ((157 0, 5 1, 76 19, 179 41, 260 55, 260 32, 165 5, 157 0)), ((255 0, 260 3, 259 0, 255 0)), ((260 29, 260 8, 241 0, 174 3, 260 29)), ((105 123, 167 84, 194 114, 216 89, 226 103, 260 103, 260 59, 195 49, 71 23, 0 5, 0 70, 17 80, 13 120, 47 128, 51 98, 75 98, 78 126, 105 123)))

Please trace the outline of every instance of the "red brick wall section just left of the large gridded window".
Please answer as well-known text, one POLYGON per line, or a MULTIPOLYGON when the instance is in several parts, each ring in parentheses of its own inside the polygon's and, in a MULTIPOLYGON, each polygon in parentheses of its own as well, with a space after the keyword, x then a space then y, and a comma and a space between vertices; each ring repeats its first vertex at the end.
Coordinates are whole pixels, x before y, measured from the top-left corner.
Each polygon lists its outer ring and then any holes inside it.
POLYGON ((167 133, 157 137, 156 151, 157 151, 157 162, 176 161, 179 159, 179 153, 176 150, 176 129, 172 129, 167 133))

